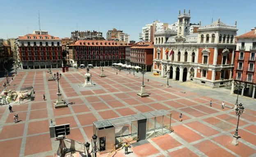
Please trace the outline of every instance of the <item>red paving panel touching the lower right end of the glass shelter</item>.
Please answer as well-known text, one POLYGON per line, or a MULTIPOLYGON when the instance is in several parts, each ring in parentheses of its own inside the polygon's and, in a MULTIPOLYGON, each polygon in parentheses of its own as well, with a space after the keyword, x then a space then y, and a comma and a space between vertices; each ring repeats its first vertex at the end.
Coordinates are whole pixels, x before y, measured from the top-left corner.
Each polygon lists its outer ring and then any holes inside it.
POLYGON ((203 137, 201 137, 194 131, 190 130, 189 128, 186 128, 185 126, 178 125, 178 126, 174 126, 173 129, 175 134, 183 138, 188 143, 197 141, 199 139, 203 139, 203 137))

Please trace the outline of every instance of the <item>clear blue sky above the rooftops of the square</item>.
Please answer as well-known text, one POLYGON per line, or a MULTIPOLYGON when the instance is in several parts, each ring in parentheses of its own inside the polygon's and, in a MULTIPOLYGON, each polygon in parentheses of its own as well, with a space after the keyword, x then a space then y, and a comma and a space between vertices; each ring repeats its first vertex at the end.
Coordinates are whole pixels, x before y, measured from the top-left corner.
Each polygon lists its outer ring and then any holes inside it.
POLYGON ((142 27, 155 20, 177 22, 178 11, 190 9, 190 22, 208 25, 220 18, 234 25, 238 35, 256 27, 254 0, 5 0, 0 4, 0 38, 17 38, 41 30, 60 38, 71 31, 121 29, 139 41, 142 27))

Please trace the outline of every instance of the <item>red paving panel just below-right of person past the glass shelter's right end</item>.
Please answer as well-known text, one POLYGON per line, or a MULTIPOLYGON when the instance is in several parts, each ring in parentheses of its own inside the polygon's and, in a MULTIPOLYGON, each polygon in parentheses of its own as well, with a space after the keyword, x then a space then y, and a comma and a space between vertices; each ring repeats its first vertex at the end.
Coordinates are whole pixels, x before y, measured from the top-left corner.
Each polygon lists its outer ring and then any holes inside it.
POLYGON ((197 121, 186 123, 185 125, 197 130, 199 133, 202 133, 205 136, 212 136, 219 133, 219 131, 197 121))

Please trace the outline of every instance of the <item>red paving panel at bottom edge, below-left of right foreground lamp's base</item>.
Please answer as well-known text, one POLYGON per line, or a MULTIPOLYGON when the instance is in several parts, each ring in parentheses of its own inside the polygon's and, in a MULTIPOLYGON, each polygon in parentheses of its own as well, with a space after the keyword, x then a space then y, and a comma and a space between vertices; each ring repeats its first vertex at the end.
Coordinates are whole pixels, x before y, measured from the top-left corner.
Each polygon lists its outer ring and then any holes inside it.
POLYGON ((235 157, 228 151, 208 140, 194 144, 194 146, 208 157, 235 157))

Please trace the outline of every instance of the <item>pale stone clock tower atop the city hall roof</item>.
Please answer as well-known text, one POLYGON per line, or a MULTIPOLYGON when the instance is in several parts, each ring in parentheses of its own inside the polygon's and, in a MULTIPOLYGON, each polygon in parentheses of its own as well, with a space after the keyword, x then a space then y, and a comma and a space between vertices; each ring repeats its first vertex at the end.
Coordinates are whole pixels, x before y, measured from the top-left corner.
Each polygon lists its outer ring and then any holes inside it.
POLYGON ((185 9, 183 14, 179 11, 178 14, 178 36, 186 36, 190 34, 190 10, 186 13, 185 9))

